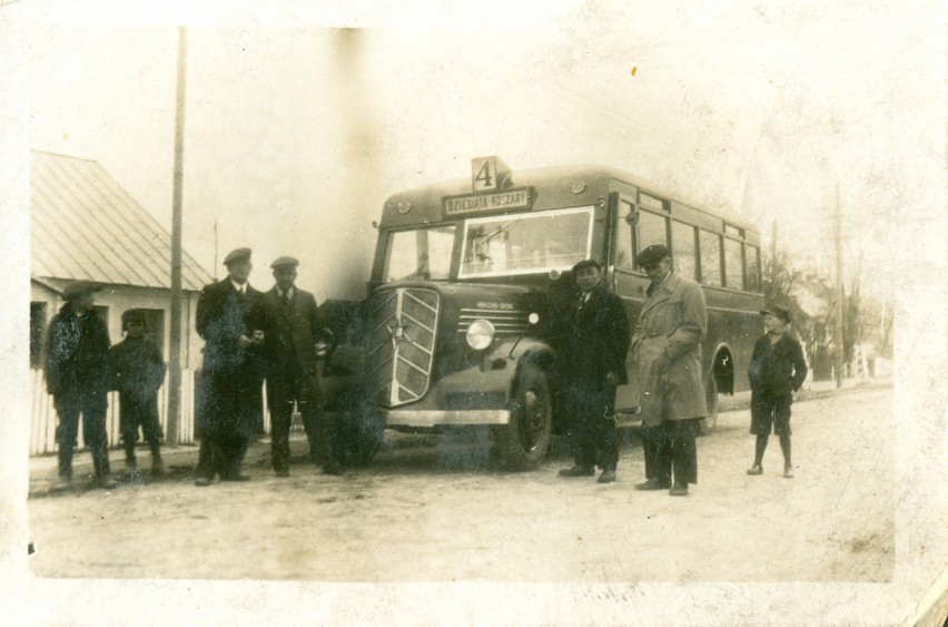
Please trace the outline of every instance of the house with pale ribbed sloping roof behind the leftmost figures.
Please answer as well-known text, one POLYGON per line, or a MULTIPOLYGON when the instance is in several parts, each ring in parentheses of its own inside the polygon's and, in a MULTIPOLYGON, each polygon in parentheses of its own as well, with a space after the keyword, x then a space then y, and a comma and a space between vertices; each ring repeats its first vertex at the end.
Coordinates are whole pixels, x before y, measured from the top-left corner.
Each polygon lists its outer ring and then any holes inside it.
MULTIPOLYGON (((122 312, 145 310, 150 339, 168 361, 169 233, 98 163, 42 151, 31 154, 30 221, 30 366, 41 369, 46 329, 63 304, 62 288, 78 278, 102 285, 96 310, 112 343, 122 336, 122 312)), ((181 366, 196 369, 204 342, 195 331, 195 308, 200 288, 213 278, 187 253, 181 264, 181 366)), ((36 384, 41 380, 37 372, 36 384)), ((34 390, 33 399, 40 395, 42 391, 34 390)), ((36 422, 38 411, 49 413, 48 406, 37 408, 49 403, 41 399, 33 404, 36 422)), ((37 429, 40 433, 33 433, 31 451, 47 452, 48 444, 42 442, 48 438, 42 432, 55 427, 37 429)))

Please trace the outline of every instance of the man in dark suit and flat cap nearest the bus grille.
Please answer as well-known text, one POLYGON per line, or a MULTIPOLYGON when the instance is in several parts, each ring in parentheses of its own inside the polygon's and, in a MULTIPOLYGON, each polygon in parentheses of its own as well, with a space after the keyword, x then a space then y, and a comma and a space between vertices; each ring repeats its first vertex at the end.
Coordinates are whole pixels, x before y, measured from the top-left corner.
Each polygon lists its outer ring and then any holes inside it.
POLYGON ((270 447, 277 477, 289 476, 289 425, 294 402, 299 404, 303 427, 309 441, 309 457, 328 474, 340 474, 333 458, 329 429, 319 399, 316 379, 316 341, 323 331, 316 298, 296 286, 294 257, 279 257, 270 267, 276 285, 264 301, 273 321, 267 336, 267 404, 273 420, 270 447))

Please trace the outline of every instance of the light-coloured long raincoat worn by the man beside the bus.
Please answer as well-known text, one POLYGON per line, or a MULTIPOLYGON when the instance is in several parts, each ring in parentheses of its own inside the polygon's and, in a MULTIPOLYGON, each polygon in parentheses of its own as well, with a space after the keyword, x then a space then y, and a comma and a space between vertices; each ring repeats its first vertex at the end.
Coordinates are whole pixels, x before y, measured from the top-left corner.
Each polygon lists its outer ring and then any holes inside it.
POLYGON ((632 334, 643 427, 708 415, 701 373, 701 339, 708 327, 704 294, 670 273, 649 287, 632 334))

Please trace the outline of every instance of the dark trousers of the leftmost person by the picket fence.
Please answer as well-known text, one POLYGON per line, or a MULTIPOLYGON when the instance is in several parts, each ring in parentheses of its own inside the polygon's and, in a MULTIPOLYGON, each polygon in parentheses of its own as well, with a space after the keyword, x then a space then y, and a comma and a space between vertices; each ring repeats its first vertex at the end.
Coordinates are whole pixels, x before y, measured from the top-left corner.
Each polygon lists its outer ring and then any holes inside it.
POLYGON ((72 454, 79 435, 79 414, 82 414, 82 439, 92 453, 92 469, 97 478, 109 472, 109 448, 106 434, 103 393, 70 390, 56 399, 59 415, 57 442, 59 444, 59 476, 72 477, 72 454))

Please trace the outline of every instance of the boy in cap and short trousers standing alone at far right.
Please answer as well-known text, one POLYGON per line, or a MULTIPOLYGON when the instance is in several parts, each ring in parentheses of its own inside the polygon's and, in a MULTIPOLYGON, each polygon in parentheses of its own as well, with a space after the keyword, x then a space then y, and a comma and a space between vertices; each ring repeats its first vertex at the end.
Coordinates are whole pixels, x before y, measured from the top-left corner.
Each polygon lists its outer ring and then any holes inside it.
POLYGON ((783 451, 783 477, 793 477, 790 460, 790 405, 793 392, 807 379, 807 362, 800 342, 787 333, 790 312, 786 307, 771 305, 760 312, 763 316, 764 335, 753 345, 748 365, 751 384, 751 428, 757 435, 753 466, 748 474, 763 474, 763 451, 771 428, 780 438, 783 451))

